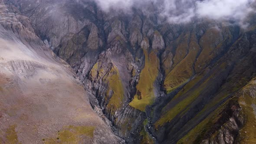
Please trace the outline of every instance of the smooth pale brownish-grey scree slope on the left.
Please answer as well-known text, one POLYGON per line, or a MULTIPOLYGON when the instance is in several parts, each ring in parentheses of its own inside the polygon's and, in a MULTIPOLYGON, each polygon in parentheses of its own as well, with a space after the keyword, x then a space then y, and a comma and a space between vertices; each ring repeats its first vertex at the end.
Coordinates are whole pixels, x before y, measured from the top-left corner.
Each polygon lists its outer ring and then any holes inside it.
POLYGON ((0 1, 0 17, 0 143, 120 144, 29 18, 8 1, 0 1))

